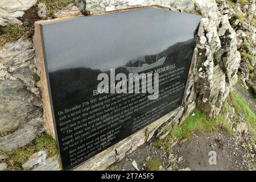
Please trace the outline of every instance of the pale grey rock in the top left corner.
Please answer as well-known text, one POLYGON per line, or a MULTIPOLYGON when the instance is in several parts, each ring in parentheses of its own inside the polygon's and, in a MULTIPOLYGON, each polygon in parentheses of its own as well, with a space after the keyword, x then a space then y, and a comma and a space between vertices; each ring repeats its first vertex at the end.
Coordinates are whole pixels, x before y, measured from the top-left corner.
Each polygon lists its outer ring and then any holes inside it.
POLYGON ((15 11, 26 11, 35 5, 37 0, 1 0, 0 8, 13 13, 15 11))

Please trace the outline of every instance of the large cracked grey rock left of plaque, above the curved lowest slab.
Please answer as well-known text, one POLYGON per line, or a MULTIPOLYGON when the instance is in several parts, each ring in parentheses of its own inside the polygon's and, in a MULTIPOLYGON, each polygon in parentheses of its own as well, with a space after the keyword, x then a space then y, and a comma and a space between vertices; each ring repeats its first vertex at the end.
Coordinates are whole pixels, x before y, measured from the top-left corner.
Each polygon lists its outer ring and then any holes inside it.
POLYGON ((28 115, 42 106, 31 93, 36 73, 32 42, 20 38, 0 49, 0 133, 26 123, 28 115))

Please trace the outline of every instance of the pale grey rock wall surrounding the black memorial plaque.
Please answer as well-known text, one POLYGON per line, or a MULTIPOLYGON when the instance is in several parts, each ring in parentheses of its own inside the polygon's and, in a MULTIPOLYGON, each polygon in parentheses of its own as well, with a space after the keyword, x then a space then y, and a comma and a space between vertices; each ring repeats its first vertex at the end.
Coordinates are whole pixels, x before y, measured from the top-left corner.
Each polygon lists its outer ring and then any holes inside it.
MULTIPOLYGON (((18 23, 16 20, 6 19, 4 19, 5 23, 2 23, 1 20, 5 14, 11 15, 17 11, 23 11, 28 8, 28 5, 25 3, 27 6, 23 9, 16 6, 10 9, 5 6, 6 2, 3 0, 0 3, 0 24, 18 23)), ((15 2, 15 0, 8 2, 15 2)), ((195 107, 204 111, 210 118, 218 114, 222 102, 237 81, 240 53, 237 51, 236 32, 229 24, 229 15, 222 14, 215 1, 75 0, 75 3, 83 14, 158 5, 174 11, 203 16, 196 38, 193 64, 183 104, 158 121, 89 159, 77 167, 77 170, 105 169, 162 133, 167 126, 180 125, 195 107)), ((77 7, 71 5, 69 9, 63 10, 64 15, 72 15, 72 13, 69 14, 71 9, 75 10, 77 15, 77 7)), ((58 16, 60 15, 61 12, 58 16)), ((23 37, 17 42, 6 43, 0 48, 0 113, 3 116, 0 119, 2 134, 0 150, 11 151, 24 146, 44 131, 43 108, 35 82, 35 61, 32 40, 29 38, 23 37)), ((56 157, 48 161, 48 166, 35 168, 35 170, 59 169, 56 157)))

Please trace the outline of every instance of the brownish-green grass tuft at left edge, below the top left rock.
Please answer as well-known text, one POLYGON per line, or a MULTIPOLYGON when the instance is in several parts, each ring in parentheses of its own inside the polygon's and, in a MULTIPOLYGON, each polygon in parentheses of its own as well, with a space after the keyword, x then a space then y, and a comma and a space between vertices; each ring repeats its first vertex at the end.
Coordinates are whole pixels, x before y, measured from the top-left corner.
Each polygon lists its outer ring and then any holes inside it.
POLYGON ((5 43, 16 41, 22 36, 32 36, 33 34, 34 30, 32 30, 31 27, 26 27, 20 24, 0 27, 0 47, 5 43))

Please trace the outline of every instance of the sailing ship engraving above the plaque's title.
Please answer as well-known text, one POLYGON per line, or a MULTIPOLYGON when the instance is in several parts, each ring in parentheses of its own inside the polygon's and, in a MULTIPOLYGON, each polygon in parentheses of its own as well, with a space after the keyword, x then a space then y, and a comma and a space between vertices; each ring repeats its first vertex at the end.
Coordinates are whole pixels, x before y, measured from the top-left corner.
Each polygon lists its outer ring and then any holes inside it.
POLYGON ((141 65, 140 64, 141 61, 139 61, 138 67, 123 67, 123 68, 126 68, 127 71, 129 71, 129 73, 139 73, 139 72, 143 72, 148 69, 155 68, 155 67, 162 65, 164 63, 164 61, 166 60, 166 58, 167 58, 167 53, 163 53, 160 56, 158 56, 158 55, 156 56, 155 63, 152 63, 152 64, 144 63, 141 65))

